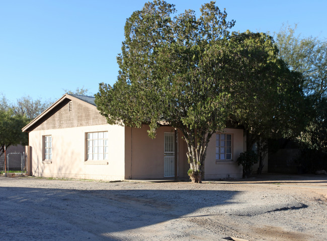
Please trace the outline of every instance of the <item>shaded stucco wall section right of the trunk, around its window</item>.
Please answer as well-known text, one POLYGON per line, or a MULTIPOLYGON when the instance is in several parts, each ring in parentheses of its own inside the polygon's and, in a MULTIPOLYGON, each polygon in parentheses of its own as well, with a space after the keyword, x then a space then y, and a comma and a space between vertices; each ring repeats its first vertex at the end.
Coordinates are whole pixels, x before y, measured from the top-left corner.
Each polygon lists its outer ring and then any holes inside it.
POLYGON ((205 180, 242 177, 242 167, 237 165, 236 159, 244 151, 243 130, 226 128, 224 133, 232 134, 232 160, 225 162, 216 160, 216 135, 213 134, 205 158, 205 180))

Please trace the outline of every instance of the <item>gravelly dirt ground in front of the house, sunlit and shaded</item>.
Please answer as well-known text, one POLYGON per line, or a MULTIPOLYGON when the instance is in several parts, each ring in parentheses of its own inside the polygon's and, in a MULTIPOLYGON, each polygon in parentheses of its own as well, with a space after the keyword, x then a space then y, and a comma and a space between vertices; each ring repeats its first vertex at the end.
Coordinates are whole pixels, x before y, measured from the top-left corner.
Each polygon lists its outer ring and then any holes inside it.
POLYGON ((0 177, 0 193, 0 240, 327 240, 327 176, 203 184, 0 177))

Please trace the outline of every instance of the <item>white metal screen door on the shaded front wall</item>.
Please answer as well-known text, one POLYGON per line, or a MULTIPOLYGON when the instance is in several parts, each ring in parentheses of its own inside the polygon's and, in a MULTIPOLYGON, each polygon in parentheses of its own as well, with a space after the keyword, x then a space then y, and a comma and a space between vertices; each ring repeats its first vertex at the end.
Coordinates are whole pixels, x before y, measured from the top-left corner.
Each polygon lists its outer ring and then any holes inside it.
POLYGON ((175 134, 165 133, 164 177, 175 177, 175 134))

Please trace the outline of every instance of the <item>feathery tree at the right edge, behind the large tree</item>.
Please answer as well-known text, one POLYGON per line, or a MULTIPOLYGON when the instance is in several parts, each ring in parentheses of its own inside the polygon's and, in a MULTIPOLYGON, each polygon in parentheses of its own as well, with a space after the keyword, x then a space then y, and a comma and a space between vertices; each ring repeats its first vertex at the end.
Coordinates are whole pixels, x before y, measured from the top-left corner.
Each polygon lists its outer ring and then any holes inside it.
POLYGON ((307 103, 303 112, 309 121, 297 140, 301 145, 299 163, 307 171, 327 165, 327 42, 317 37, 302 38, 286 26, 276 35, 280 56, 290 68, 302 73, 307 103))

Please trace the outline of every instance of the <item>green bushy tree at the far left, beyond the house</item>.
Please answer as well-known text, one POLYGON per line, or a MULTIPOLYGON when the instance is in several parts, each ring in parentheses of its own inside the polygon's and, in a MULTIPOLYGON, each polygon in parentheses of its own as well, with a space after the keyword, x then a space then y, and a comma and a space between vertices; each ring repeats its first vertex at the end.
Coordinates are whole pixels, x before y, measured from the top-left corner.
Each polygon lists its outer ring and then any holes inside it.
POLYGON ((22 128, 29 120, 22 115, 15 115, 9 110, 0 110, 0 156, 5 151, 5 146, 28 144, 27 133, 22 132, 22 128))

